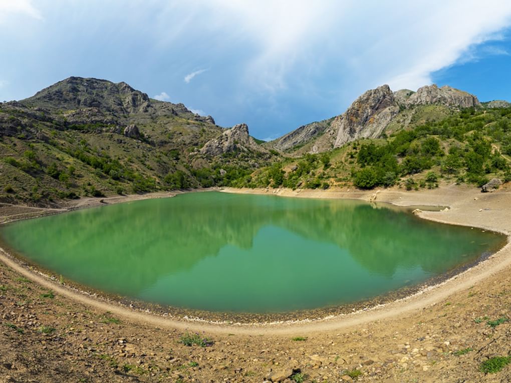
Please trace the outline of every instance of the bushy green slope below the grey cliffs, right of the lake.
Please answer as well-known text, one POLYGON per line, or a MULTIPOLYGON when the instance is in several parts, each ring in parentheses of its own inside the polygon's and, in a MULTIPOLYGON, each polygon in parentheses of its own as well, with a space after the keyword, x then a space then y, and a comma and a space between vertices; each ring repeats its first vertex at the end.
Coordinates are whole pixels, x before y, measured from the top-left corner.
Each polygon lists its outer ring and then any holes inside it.
POLYGON ((393 123, 382 139, 360 139, 320 155, 284 159, 252 175, 249 187, 295 189, 401 185, 437 187, 442 180, 481 186, 511 181, 511 108, 467 109, 412 129, 393 123))

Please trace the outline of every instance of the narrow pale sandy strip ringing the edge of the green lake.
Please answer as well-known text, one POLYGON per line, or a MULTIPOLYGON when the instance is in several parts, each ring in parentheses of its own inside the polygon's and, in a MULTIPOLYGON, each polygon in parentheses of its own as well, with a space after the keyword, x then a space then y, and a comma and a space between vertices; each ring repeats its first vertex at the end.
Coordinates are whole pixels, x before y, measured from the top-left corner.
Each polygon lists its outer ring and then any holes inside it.
MULTIPOLYGON (((194 191, 207 191, 208 189, 191 190, 194 191)), ((213 189, 215 190, 215 189, 213 189)), ((364 307, 362 304, 358 310, 353 310, 350 313, 335 313, 323 318, 303 318, 300 320, 279 320, 272 322, 249 322, 249 323, 233 323, 230 321, 211 321, 207 318, 190 317, 184 316, 184 318, 176 318, 169 314, 158 314, 151 313, 146 308, 144 309, 132 309, 129 304, 123 305, 117 300, 112 301, 104 299, 98 294, 83 291, 75 288, 73 284, 71 286, 59 285, 56 278, 52 278, 44 272, 41 272, 37 268, 27 267, 24 262, 16 256, 10 255, 8 252, 4 252, 0 248, 0 260, 4 261, 6 265, 16 270, 18 273, 36 281, 37 283, 44 285, 52 290, 55 290, 59 294, 66 295, 71 299, 78 300, 82 303, 96 306, 101 309, 108 310, 109 312, 129 317, 130 319, 143 322, 151 323, 158 326, 172 327, 172 328, 185 328, 191 330, 207 330, 212 332, 236 332, 236 333, 260 333, 272 332, 272 333, 290 333, 297 330, 307 331, 324 331, 330 329, 342 329, 355 326, 358 324, 364 324, 371 321, 377 321, 387 318, 399 316, 401 314, 413 311, 415 309, 424 308, 430 305, 434 305, 436 301, 444 299, 445 297, 455 294, 456 292, 466 289, 468 286, 473 285, 488 276, 491 276, 511 265, 511 243, 510 238, 510 227, 502 225, 505 223, 506 217, 504 212, 504 222, 502 219, 493 219, 490 217, 490 224, 481 225, 483 222, 474 224, 470 219, 474 219, 474 211, 471 211, 471 217, 467 214, 459 214, 459 210, 466 210, 469 201, 478 201, 478 197, 481 196, 484 199, 495 200, 495 196, 509 196, 509 191, 506 189, 499 190, 498 192, 491 194, 476 194, 475 188, 469 188, 466 186, 444 186, 439 189, 426 190, 425 192, 404 192, 396 189, 386 190, 371 190, 370 192, 356 191, 351 192, 350 190, 298 190, 293 191, 289 189, 234 189, 234 188, 223 188, 216 190, 225 193, 238 193, 238 194, 271 194, 284 197, 299 197, 299 198, 335 198, 335 199, 356 199, 364 200, 368 202, 384 202, 390 203, 394 206, 399 207, 410 207, 410 206, 449 206, 450 208, 442 211, 419 211, 417 215, 423 219, 444 223, 454 224, 463 226, 480 227, 485 230, 492 230, 505 234, 507 236, 507 243, 496 253, 489 256, 487 259, 478 261, 475 266, 469 267, 467 270, 461 271, 454 276, 448 277, 446 280, 441 280, 439 283, 433 285, 426 285, 424 287, 421 284, 418 291, 407 294, 404 297, 398 297, 398 299, 391 299, 384 303, 376 303, 370 307, 364 307), (454 190, 454 193, 452 193, 454 190), (441 193, 439 193, 441 191, 441 193), (459 198, 463 195, 464 198, 459 198), (448 203, 447 203, 448 202, 448 203), (451 213, 451 214, 449 214, 451 213), (453 213, 457 213, 453 216, 453 213), (470 222, 463 222, 469 218, 470 222), (501 225, 495 223, 500 222, 501 225)), ((114 196, 106 197, 102 199, 86 198, 79 201, 72 201, 69 203, 70 206, 63 207, 62 209, 41 209, 42 213, 39 216, 47 215, 47 213, 60 213, 65 211, 71 211, 78 208, 87 208, 94 206, 102 206, 105 204, 121 203, 136 201, 150 198, 165 198, 173 197, 177 194, 187 192, 172 192, 172 193, 153 193, 148 195, 134 195, 134 196, 114 196)), ((481 209, 481 208, 479 208, 481 209)), ((477 213, 481 213, 483 210, 477 210, 477 213)), ((488 211, 488 210, 485 210, 488 211)), ((492 210, 489 210, 492 211, 492 210)), ((502 211, 501 211, 502 212, 502 211)), ((488 214, 486 214, 487 216, 488 214)), ((493 214, 495 216, 495 214, 493 214)), ((475 214, 477 217, 477 214, 475 214)), ((492 216, 492 214, 490 214, 492 216)), ((507 216, 509 217, 509 216, 507 216)), ((32 218, 32 217, 19 217, 18 219, 32 218)), ((12 222, 13 220, 4 220, 2 224, 12 222)), ((486 221, 487 217, 486 217, 486 221)), ((380 297, 376 297, 380 298, 380 297)), ((193 312, 193 310, 184 310, 185 312, 193 312)), ((313 312, 314 310, 310 310, 313 312)), ((292 315, 292 313, 291 313, 292 315)))

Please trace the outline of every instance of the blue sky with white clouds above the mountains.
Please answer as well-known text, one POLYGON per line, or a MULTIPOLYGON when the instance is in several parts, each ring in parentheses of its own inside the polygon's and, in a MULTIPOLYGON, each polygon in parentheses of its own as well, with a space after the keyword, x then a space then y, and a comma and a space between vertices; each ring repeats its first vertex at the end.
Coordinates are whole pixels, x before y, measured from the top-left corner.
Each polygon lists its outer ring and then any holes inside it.
POLYGON ((508 0, 0 0, 0 101, 127 82, 261 139, 382 84, 511 101, 508 0))

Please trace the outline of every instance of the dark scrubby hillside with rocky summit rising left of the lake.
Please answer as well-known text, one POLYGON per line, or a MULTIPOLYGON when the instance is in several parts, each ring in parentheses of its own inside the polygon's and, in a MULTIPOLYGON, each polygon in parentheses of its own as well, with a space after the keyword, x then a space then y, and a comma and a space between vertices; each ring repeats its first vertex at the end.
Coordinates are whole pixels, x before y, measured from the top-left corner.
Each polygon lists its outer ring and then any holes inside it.
POLYGON ((272 155, 253 139, 246 151, 243 142, 222 155, 200 151, 228 131, 126 83, 71 77, 0 104, 0 200, 44 204, 229 185, 269 163, 272 155))

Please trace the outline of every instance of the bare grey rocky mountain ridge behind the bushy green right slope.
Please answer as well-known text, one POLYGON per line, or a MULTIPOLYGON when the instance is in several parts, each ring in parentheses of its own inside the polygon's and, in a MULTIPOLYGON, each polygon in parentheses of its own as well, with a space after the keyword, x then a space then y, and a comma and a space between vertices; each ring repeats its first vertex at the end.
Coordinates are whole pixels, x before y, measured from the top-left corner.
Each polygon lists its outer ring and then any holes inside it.
MULTIPOLYGON (((272 145, 280 150, 320 153, 359 138, 378 138, 397 119, 409 125, 428 106, 436 106, 436 112, 444 117, 450 111, 479 107, 480 103, 474 95, 449 86, 430 85, 416 92, 408 89, 393 92, 388 85, 382 85, 363 93, 328 123, 313 123, 324 129, 314 130, 310 128, 314 125, 309 124, 277 138, 272 145)), ((434 117, 432 111, 428 114, 434 117)))

